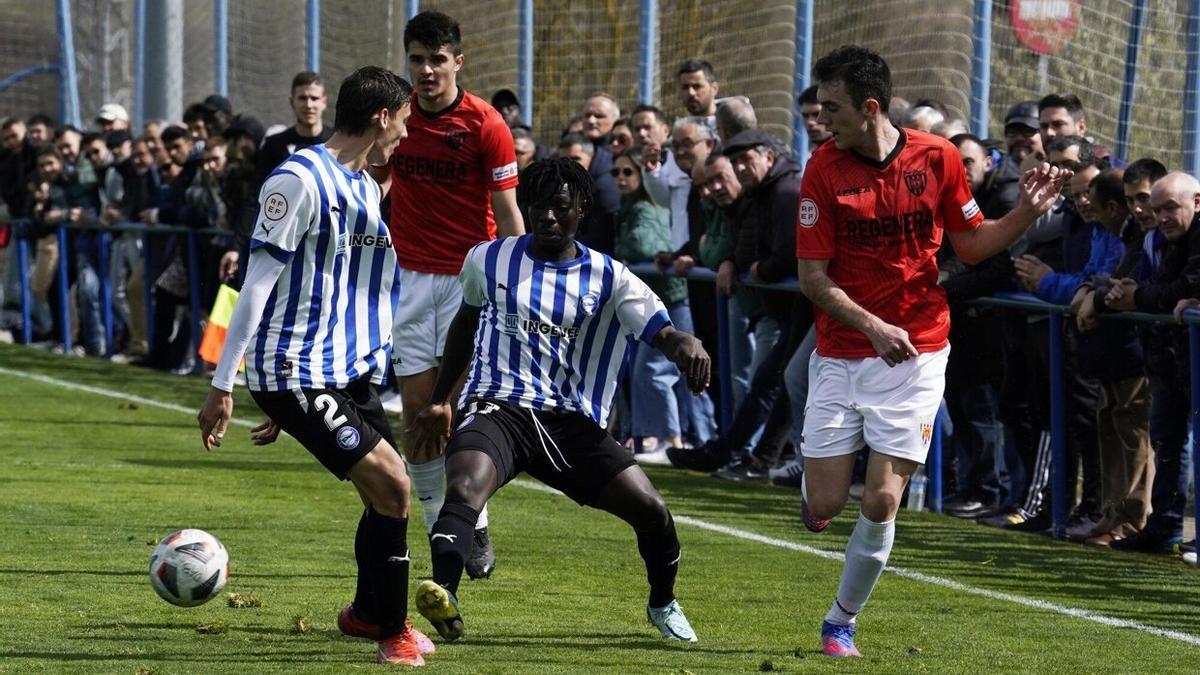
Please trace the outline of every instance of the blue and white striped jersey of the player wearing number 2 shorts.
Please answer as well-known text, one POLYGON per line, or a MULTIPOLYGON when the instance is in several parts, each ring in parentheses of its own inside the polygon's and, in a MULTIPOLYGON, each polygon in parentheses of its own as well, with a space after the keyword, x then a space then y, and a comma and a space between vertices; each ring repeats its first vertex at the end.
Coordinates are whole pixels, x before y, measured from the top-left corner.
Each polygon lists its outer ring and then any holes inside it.
POLYGON ((383 382, 400 268, 373 178, 349 172, 324 145, 298 151, 268 177, 250 247, 284 268, 246 351, 251 389, 383 382))

